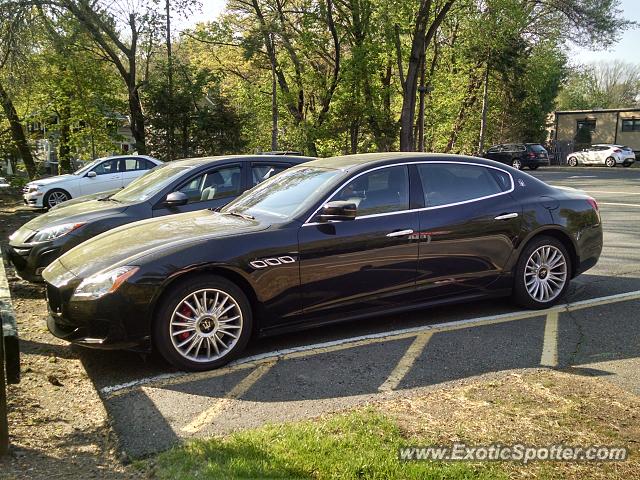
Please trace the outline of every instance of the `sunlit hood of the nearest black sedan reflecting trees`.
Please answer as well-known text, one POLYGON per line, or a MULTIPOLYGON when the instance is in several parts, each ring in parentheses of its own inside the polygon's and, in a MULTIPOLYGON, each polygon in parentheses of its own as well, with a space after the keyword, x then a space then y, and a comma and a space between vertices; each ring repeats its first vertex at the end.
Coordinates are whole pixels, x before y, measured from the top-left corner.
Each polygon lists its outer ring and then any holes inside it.
POLYGON ((136 264, 145 255, 230 235, 264 230, 270 224, 211 210, 182 213, 129 223, 94 237, 69 250, 44 272, 54 283, 60 267, 86 278, 101 270, 136 264))

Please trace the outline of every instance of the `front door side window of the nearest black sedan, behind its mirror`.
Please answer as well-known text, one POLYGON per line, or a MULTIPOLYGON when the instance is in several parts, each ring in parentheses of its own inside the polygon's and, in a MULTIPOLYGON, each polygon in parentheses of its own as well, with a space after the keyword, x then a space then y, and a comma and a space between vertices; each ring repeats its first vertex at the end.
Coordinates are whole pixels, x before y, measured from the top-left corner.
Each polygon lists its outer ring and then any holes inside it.
POLYGON ((359 217, 408 210, 409 172, 404 165, 374 170, 343 187, 333 199, 354 202, 359 217))

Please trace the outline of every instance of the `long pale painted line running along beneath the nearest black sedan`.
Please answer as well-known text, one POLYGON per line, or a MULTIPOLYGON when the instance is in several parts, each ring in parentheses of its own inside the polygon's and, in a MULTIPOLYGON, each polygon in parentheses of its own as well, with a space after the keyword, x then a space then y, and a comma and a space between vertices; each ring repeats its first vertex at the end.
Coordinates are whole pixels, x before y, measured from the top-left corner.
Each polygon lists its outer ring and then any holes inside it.
POLYGON ((131 382, 126 382, 118 385, 112 385, 103 387, 100 389, 100 393, 105 398, 109 398, 115 395, 122 395, 128 391, 135 389, 143 385, 173 385, 176 383, 191 382, 196 380, 203 380, 207 378, 218 377, 226 375, 230 372, 237 371, 245 368, 253 368, 263 363, 268 363, 275 359, 290 359, 300 358, 309 355, 316 355, 320 353, 343 350, 348 348, 354 348, 361 345, 369 345, 373 343, 381 343, 392 340, 400 340, 403 338, 415 337, 424 332, 447 332, 461 330, 465 328, 479 327, 483 325, 494 325, 498 323, 513 322, 516 320, 526 320, 534 317, 540 317, 548 315, 549 313, 556 312, 571 312, 575 310, 582 310, 585 308, 596 307, 600 305, 608 305, 611 303, 626 302, 631 300, 640 299, 640 290, 619 293, 616 295, 609 295, 606 297, 591 298, 588 300, 582 300, 579 302, 565 303, 549 308, 547 310, 525 310, 513 313, 504 313, 500 315, 491 315, 487 317, 471 318, 466 320, 455 320, 452 322, 436 323, 432 325, 423 325, 420 327, 404 328, 399 330, 392 330, 389 332, 373 333, 369 335, 361 335, 358 337, 343 338, 340 340, 334 340, 331 342, 323 342, 312 345, 301 345, 298 347, 287 348, 283 350, 276 350, 273 352, 261 353, 250 357, 241 358, 229 363, 226 367, 212 370, 209 372, 198 373, 185 373, 177 372, 172 374, 163 374, 153 377, 141 378, 131 382))

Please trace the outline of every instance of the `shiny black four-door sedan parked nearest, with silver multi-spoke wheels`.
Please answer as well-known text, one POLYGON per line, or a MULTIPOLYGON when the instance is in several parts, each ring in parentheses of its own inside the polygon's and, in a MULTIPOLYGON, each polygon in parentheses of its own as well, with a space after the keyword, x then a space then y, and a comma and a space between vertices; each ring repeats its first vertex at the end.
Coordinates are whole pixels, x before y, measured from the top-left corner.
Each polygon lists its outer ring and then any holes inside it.
POLYGON ((57 337, 228 362, 259 335, 512 295, 559 301, 602 249, 596 202, 480 158, 316 160, 220 211, 111 230, 43 273, 57 337))

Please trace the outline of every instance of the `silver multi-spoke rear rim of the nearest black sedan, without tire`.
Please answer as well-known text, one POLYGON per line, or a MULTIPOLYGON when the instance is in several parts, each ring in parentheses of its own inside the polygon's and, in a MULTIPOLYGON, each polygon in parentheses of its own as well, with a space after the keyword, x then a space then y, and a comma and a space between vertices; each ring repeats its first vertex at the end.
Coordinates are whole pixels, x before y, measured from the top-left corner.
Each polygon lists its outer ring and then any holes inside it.
POLYGON ((529 296, 547 303, 562 292, 567 282, 567 261, 560 249, 543 245, 533 251, 524 269, 524 284, 529 296))

